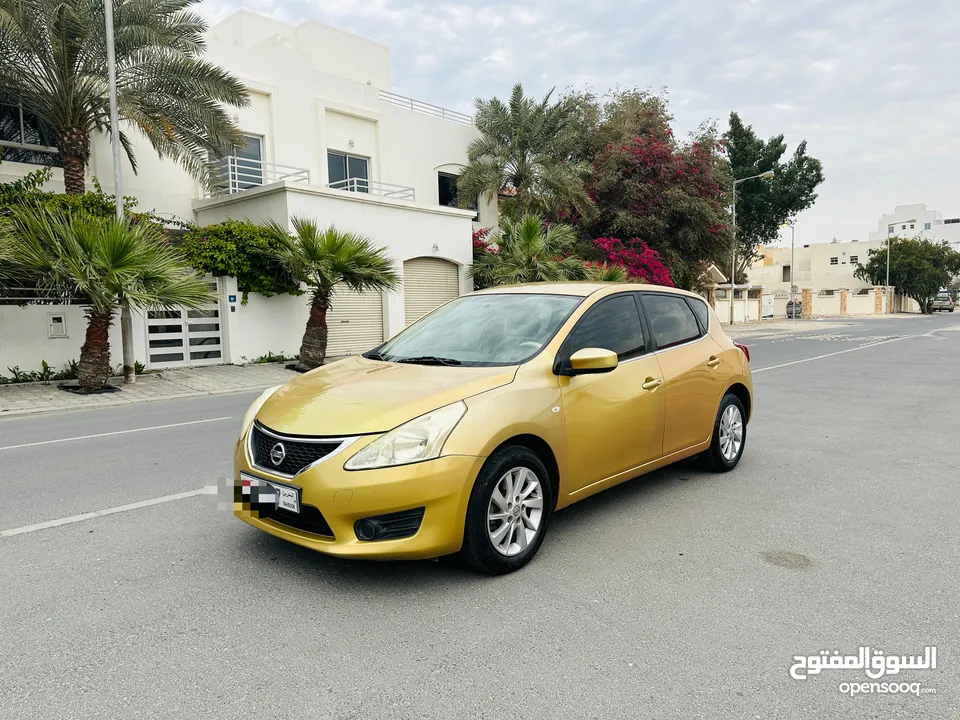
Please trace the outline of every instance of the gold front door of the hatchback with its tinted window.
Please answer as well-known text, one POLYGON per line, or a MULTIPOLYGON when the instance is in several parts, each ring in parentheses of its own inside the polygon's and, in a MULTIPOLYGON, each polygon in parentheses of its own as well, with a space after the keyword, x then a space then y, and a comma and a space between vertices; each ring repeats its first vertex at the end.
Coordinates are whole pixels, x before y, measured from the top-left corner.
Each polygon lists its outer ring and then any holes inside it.
POLYGON ((559 362, 571 492, 660 458, 660 367, 635 293, 590 308, 564 342, 559 362), (618 366, 599 375, 562 374, 569 371, 569 357, 588 347, 617 353, 618 366))

